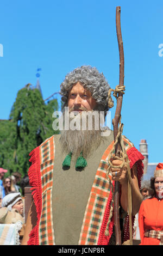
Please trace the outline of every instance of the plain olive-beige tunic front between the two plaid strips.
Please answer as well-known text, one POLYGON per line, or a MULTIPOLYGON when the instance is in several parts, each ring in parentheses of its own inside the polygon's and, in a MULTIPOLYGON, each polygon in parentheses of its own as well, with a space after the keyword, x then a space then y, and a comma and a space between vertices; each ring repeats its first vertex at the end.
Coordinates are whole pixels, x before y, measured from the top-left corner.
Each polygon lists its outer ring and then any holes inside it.
POLYGON ((86 159, 87 167, 75 169, 72 156, 70 169, 62 169, 66 155, 62 154, 60 135, 55 136, 55 160, 53 172, 53 224, 55 245, 78 245, 87 200, 104 151, 113 141, 113 134, 103 137, 98 149, 86 159), (55 162, 57 164, 55 164, 55 162))

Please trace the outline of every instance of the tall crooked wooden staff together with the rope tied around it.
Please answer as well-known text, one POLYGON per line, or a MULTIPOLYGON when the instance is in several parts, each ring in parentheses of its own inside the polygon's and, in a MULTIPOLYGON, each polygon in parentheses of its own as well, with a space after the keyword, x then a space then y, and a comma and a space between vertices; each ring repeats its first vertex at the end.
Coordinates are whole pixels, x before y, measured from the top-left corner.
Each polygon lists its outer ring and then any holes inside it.
MULTIPOLYGON (((131 171, 130 171, 130 162, 124 148, 124 143, 122 139, 122 130, 123 124, 121 124, 121 108, 122 100, 124 94, 124 53, 123 53, 123 41, 121 35, 121 7, 116 8, 116 31, 117 31, 117 40, 120 53, 120 80, 119 85, 114 89, 109 89, 108 92, 108 106, 109 108, 114 106, 114 102, 111 99, 111 92, 114 91, 114 96, 117 100, 115 117, 112 119, 112 125, 114 127, 114 145, 108 155, 109 167, 106 172, 106 176, 109 179, 110 168, 123 168, 127 169, 127 179, 128 179, 128 215, 129 215, 129 232, 130 232, 130 245, 132 245, 132 223, 131 223, 131 211, 132 211, 132 199, 131 199, 131 171), (115 154, 113 154, 115 153, 115 154), (111 162, 111 159, 118 159, 122 161, 120 166, 114 166, 111 162)), ((116 245, 121 245, 121 229, 120 229, 120 183, 115 181, 115 188, 113 193, 114 198, 114 227, 116 235, 116 245)), ((112 208, 113 209, 113 208, 112 208)), ((109 227, 110 219, 112 217, 112 212, 108 220, 107 227, 109 227)), ((105 231, 105 235, 108 235, 108 232, 105 231)))

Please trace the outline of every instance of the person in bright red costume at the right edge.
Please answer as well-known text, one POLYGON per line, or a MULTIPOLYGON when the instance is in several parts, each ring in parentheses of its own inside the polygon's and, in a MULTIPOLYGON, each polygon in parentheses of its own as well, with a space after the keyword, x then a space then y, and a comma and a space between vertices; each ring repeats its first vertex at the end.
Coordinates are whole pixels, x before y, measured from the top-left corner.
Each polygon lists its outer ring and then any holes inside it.
POLYGON ((142 202, 139 210, 140 245, 163 245, 163 163, 151 178, 153 197, 142 202))

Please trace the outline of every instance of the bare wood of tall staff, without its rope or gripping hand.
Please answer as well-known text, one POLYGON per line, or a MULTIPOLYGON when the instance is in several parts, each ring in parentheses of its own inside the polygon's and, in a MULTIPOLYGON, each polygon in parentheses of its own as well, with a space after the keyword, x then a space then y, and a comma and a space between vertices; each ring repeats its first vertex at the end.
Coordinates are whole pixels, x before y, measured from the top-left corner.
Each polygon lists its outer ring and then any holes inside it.
MULTIPOLYGON (((121 7, 116 7, 116 31, 117 40, 120 53, 120 80, 119 86, 124 85, 124 52, 123 52, 123 41, 121 34, 121 7)), ((117 106, 115 117, 112 120, 112 125, 114 127, 114 141, 118 133, 118 124, 121 117, 123 94, 118 93, 117 106)), ((122 149, 118 142, 115 148, 115 155, 120 156, 122 149)), ((116 235, 116 245, 121 245, 121 229, 120 229, 120 210, 119 210, 119 200, 120 200, 120 183, 115 181, 115 194, 114 194, 114 225, 115 225, 115 235, 116 235)))

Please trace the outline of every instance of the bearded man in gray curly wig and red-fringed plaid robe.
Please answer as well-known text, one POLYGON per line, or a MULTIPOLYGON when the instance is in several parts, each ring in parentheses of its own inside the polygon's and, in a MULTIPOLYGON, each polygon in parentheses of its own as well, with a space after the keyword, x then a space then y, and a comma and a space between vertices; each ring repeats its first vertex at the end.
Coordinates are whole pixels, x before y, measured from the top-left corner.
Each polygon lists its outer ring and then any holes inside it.
MULTIPOLYGON (((109 88, 104 75, 96 68, 81 66, 70 72, 61 84, 63 108, 68 107, 70 114, 76 113, 76 120, 82 120, 85 111, 103 111, 106 115, 109 88)), ((127 170, 111 168, 109 178, 106 177, 114 136, 111 130, 109 136, 108 130, 106 136, 101 136, 101 130, 95 129, 95 125, 92 129, 86 125, 85 130, 65 129, 30 153, 32 166, 28 175, 34 204, 29 211, 22 245, 115 244, 112 217, 115 181, 121 184, 123 241, 129 239, 127 170)), ((143 156, 124 136, 123 142, 130 160, 134 216, 142 202, 139 187, 143 156)), ((121 163, 112 161, 115 166, 121 163)))

